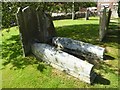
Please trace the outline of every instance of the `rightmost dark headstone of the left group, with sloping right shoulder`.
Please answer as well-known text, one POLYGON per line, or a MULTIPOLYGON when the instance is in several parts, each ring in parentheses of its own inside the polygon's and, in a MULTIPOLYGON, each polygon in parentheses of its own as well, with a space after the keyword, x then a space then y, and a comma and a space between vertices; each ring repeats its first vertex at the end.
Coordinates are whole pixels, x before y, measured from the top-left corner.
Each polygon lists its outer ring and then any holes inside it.
MULTIPOLYGON (((40 32, 40 42, 50 43, 52 37, 56 36, 56 31, 54 24, 52 22, 52 17, 49 14, 41 11, 40 8, 36 9, 37 21, 38 21, 38 31, 40 32)), ((36 34, 37 35, 37 34, 36 34)))

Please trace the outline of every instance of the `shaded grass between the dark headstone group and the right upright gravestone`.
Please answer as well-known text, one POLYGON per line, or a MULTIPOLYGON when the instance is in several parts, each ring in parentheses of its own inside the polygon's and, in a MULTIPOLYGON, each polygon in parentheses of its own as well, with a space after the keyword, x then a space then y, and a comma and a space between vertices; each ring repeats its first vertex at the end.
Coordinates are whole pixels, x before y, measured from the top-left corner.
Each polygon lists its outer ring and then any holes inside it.
POLYGON ((97 24, 81 24, 57 27, 57 35, 60 37, 68 37, 85 42, 96 43, 98 39, 97 24))

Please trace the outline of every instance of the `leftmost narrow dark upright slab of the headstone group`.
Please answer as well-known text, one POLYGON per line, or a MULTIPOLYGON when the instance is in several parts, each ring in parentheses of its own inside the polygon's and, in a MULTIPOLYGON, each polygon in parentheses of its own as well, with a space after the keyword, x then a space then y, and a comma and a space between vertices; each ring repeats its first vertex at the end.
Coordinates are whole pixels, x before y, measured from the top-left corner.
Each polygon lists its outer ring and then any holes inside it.
POLYGON ((19 31, 20 31, 20 37, 22 40, 22 47, 23 47, 23 52, 24 55, 28 55, 30 52, 30 44, 29 44, 29 32, 28 32, 28 28, 26 27, 27 25, 25 17, 23 16, 26 11, 22 11, 22 8, 18 8, 17 11, 17 23, 18 23, 18 27, 19 27, 19 31))

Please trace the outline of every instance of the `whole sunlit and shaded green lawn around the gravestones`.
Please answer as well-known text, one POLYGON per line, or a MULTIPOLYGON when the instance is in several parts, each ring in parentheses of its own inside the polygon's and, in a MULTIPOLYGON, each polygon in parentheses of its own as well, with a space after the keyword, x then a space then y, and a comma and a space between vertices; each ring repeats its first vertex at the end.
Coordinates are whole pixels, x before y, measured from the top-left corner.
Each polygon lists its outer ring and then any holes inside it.
MULTIPOLYGON (((34 56, 23 57, 18 27, 4 29, 2 33, 2 88, 117 88, 118 87, 118 45, 115 22, 110 23, 110 31, 104 42, 98 41, 98 17, 86 21, 54 21, 57 35, 69 37, 106 47, 106 60, 99 62, 95 71, 99 78, 93 85, 86 84, 64 72, 56 70, 34 56)), ((0 41, 1 41, 0 40, 0 41)), ((1 43, 0 43, 1 46, 1 43)), ((1 60, 0 60, 1 61, 1 60)))

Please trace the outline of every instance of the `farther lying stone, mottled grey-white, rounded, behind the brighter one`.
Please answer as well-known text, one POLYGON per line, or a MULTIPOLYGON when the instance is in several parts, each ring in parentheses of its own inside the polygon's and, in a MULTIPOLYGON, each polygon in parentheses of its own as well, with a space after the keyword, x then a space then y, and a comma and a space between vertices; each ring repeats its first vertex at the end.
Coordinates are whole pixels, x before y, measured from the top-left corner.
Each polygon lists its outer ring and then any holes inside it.
POLYGON ((86 60, 103 60, 105 49, 102 47, 64 37, 54 37, 52 42, 64 51, 83 56, 86 60))

